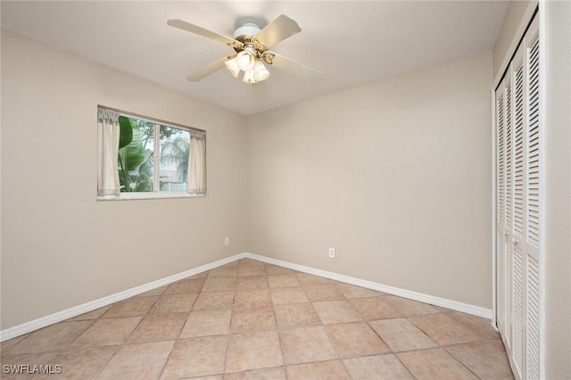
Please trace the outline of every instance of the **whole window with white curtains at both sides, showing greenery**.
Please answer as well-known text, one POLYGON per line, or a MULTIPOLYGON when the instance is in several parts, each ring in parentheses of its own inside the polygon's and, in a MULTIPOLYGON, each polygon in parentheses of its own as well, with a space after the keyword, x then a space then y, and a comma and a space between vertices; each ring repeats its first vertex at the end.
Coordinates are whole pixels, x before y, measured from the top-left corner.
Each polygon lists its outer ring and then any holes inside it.
POLYGON ((205 133, 98 108, 98 199, 200 196, 205 188, 205 133))

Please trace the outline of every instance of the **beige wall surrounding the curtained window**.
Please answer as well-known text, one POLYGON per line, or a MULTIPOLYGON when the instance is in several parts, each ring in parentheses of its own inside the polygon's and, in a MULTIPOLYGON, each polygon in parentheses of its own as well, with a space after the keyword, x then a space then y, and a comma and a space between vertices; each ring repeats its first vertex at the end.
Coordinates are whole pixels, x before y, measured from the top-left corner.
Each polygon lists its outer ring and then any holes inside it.
POLYGON ((2 328, 244 252, 244 136, 243 117, 3 32, 2 328), (98 103, 206 129, 208 196, 96 202, 98 103))

